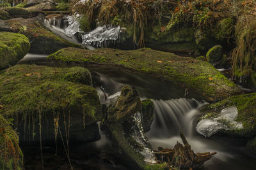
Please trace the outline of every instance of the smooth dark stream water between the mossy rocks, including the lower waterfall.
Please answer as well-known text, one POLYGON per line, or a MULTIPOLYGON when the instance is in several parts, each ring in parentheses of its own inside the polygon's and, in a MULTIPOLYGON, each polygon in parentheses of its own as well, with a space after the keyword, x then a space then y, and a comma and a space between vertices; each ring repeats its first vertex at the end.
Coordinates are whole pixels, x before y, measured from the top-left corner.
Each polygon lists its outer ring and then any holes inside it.
MULTIPOLYGON (((47 55, 28 53, 19 64, 47 64, 47 55)), ((173 148, 179 141, 179 131, 183 131, 191 148, 196 152, 218 152, 211 160, 205 162, 200 169, 255 169, 256 157, 246 151, 244 139, 212 136, 204 138, 195 131, 195 120, 200 107, 207 104, 196 92, 189 92, 184 98, 184 88, 162 78, 147 74, 132 73, 125 69, 89 66, 93 77, 93 86, 98 90, 100 101, 119 92, 124 85, 136 87, 141 99, 152 99, 155 105, 154 122, 147 137, 152 147, 173 148)), ((115 144, 100 131, 101 139, 93 143, 70 146, 70 159, 74 169, 139 169, 134 162, 120 154, 115 144)), ((22 148, 24 150, 26 169, 40 169, 40 150, 38 148, 22 148), (38 150, 36 152, 36 150, 38 150), (36 163, 37 162, 37 163, 36 163)), ((45 169, 68 169, 65 153, 52 158, 54 149, 44 148, 44 156, 49 157, 49 167, 45 169), (55 167, 52 165, 61 164, 55 167)))

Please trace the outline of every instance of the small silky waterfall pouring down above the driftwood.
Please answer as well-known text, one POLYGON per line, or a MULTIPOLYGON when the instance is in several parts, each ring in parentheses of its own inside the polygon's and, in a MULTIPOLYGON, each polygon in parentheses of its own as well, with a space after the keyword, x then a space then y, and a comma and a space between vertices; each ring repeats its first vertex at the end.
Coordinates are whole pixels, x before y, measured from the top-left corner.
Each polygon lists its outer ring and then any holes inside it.
POLYGON ((155 117, 148 136, 166 138, 178 135, 179 131, 183 131, 186 136, 192 136, 195 131, 195 117, 200 114, 198 108, 206 104, 184 98, 153 102, 155 117))

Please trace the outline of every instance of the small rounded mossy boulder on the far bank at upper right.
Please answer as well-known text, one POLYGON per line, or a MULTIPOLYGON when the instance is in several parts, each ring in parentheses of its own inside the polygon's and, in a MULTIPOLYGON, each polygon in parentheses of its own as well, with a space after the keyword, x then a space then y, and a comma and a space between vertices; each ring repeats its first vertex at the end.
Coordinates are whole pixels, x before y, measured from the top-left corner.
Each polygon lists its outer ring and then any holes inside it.
POLYGON ((216 45, 213 46, 207 53, 206 59, 210 63, 219 62, 222 57, 222 46, 216 45))

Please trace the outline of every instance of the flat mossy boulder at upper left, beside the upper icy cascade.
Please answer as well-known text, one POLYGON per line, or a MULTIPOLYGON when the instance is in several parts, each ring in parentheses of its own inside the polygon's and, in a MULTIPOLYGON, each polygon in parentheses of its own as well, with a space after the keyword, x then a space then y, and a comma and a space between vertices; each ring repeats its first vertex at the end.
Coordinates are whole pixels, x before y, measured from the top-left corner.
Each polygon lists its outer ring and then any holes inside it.
POLYGON ((36 18, 2 20, 0 31, 20 32, 27 36, 31 43, 31 53, 53 53, 68 46, 80 47, 48 31, 36 18))

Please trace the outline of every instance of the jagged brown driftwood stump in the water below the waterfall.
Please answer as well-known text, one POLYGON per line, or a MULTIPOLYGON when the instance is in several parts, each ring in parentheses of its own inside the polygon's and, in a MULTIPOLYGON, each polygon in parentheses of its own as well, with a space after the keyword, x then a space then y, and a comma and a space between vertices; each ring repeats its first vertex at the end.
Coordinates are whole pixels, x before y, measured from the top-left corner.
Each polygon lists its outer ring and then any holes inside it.
POLYGON ((180 132, 180 138, 184 146, 177 141, 173 149, 163 149, 159 147, 158 151, 154 151, 159 163, 166 162, 166 167, 170 169, 191 170, 202 166, 205 161, 211 159, 212 156, 216 154, 216 152, 194 153, 183 132, 180 132))

